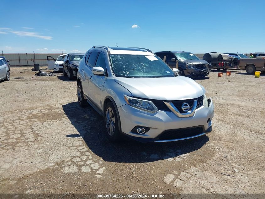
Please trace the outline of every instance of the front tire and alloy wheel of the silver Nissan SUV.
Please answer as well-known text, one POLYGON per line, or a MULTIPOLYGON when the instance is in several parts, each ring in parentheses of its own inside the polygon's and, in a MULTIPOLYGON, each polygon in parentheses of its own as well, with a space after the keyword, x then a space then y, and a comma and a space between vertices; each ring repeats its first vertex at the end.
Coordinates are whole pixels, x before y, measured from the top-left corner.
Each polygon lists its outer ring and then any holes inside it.
POLYGON ((116 109, 111 102, 108 102, 104 110, 104 126, 107 137, 110 141, 118 141, 120 132, 118 127, 118 116, 116 109))

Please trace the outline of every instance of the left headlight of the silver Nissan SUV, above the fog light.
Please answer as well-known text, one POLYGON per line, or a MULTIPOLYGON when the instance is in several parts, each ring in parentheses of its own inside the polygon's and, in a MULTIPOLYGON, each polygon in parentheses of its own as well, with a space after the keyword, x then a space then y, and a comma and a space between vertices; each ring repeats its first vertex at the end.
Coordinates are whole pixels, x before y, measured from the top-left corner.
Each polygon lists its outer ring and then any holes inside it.
POLYGON ((140 110, 143 110, 149 113, 156 113, 158 111, 156 106, 151 101, 137 99, 137 98, 130 97, 127 95, 124 96, 124 99, 125 99, 125 102, 127 102, 127 104, 129 104, 132 107, 138 108, 140 110))

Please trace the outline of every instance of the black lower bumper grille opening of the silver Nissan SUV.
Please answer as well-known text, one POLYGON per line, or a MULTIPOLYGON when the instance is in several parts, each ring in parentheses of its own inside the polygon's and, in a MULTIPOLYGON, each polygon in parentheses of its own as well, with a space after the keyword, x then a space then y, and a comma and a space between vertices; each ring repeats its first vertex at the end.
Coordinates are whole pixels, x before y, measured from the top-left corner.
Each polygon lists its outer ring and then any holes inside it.
POLYGON ((163 133, 158 135, 158 139, 159 140, 174 140, 174 139, 192 137, 192 136, 196 136, 202 133, 203 133, 202 127, 165 130, 163 133))

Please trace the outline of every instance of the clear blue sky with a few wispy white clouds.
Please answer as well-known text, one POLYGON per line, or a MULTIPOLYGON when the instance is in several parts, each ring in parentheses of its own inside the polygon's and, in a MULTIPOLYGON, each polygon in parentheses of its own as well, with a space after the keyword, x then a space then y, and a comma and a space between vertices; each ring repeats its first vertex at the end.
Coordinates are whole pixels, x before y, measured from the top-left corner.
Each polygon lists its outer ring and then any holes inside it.
POLYGON ((265 51, 264 0, 1 0, 1 8, 1 53, 85 53, 94 45, 265 51))

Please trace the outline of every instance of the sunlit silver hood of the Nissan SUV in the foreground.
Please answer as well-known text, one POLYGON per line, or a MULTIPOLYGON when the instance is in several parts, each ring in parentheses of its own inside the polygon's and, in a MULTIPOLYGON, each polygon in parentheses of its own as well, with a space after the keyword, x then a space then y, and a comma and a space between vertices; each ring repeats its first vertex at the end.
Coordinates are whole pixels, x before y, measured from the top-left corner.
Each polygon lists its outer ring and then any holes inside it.
POLYGON ((184 100, 204 95, 205 90, 188 77, 126 78, 115 81, 131 92, 133 97, 156 100, 184 100))

